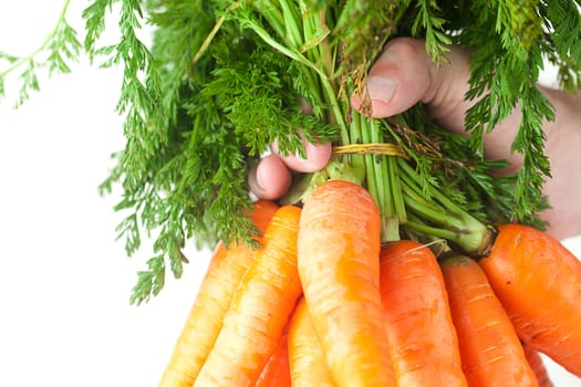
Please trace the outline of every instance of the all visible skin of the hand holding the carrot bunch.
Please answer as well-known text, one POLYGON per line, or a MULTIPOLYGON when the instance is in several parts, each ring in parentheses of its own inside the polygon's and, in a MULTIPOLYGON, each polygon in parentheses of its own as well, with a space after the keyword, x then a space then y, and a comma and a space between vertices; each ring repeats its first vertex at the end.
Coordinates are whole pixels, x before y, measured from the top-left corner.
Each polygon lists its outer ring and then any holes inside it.
MULTIPOLYGON (((367 88, 372 98, 373 115, 388 117, 406 111, 414 104, 425 104, 428 115, 443 127, 464 133, 466 111, 475 101, 465 101, 468 91, 470 53, 450 46, 448 63, 436 66, 421 40, 400 38, 387 43, 383 54, 369 73, 367 88)), ((578 167, 581 149, 581 92, 566 93, 539 86, 556 108, 557 119, 547 122, 546 155, 551 163, 551 178, 543 188, 551 209, 542 217, 549 222, 547 232, 564 239, 581 233, 581 168, 578 167)), ((355 108, 361 105, 352 97, 355 108)), ((485 151, 490 158, 510 161, 510 171, 518 170, 521 157, 510 151, 521 115, 518 109, 499 123, 485 137, 485 151)), ((274 147, 273 155, 264 157, 249 175, 252 192, 259 198, 276 199, 290 185, 290 171, 309 172, 323 168, 331 155, 330 144, 307 144, 307 159, 281 157, 274 147)))

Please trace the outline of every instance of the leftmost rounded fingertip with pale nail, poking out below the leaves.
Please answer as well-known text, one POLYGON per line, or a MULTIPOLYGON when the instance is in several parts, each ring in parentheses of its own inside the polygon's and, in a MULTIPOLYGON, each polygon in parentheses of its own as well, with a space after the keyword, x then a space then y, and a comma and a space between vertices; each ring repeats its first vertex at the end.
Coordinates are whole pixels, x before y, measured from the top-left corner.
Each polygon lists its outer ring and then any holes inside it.
POLYGON ((252 167, 248 184, 258 198, 272 200, 287 192, 291 175, 278 155, 268 155, 252 167))

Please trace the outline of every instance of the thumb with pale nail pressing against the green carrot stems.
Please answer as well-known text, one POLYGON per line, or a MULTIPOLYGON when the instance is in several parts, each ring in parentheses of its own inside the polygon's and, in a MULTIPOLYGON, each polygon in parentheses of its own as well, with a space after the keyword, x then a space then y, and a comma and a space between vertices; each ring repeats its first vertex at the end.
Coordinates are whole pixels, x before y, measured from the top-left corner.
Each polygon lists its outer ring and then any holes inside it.
MULTIPOLYGON (((367 93, 373 117, 403 113, 418 102, 428 114, 448 129, 464 128, 464 114, 469 107, 464 101, 470 76, 469 54, 450 46, 447 62, 439 66, 425 49, 425 41, 412 38, 393 39, 370 69, 367 93)), ((361 109, 363 98, 353 95, 352 103, 361 109)))

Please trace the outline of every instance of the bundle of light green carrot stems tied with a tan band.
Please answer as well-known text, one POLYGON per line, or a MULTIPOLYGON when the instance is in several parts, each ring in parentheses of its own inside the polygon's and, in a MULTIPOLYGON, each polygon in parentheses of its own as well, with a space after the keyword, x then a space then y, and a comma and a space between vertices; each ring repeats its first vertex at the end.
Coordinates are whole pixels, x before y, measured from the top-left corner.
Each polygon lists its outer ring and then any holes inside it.
MULTIPOLYGON (((304 66, 309 97, 319 103, 313 113, 321 117, 320 111, 326 112, 326 121, 339 128, 340 145, 384 143, 387 137, 396 142, 402 140, 395 130, 388 127, 388 123, 380 124, 378 121, 355 112, 350 106, 347 96, 361 88, 362 84, 355 82, 364 82, 364 76, 359 80, 351 76, 351 73, 345 77, 336 76, 335 66, 341 42, 328 39, 329 29, 324 18, 328 14, 324 4, 320 4, 321 9, 317 12, 305 11, 301 6, 288 0, 267 3, 258 1, 252 4, 264 17, 264 24, 272 24, 272 30, 253 20, 245 20, 245 27, 255 30, 274 50, 304 66), (382 130, 380 125, 387 125, 387 130, 382 130)), ((339 18, 349 18, 346 7, 339 18)), ((341 20, 342 23, 349 23, 347 19, 341 20)), ((365 65, 369 64, 363 64, 356 72, 365 71, 365 65)), ((404 119, 401 116, 398 118, 404 119)), ((349 180, 353 180, 353 171, 355 176, 364 176, 364 186, 381 212, 383 242, 400 239, 398 227, 394 227, 395 219, 404 226, 407 211, 411 210, 434 228, 452 229, 455 234, 453 242, 471 257, 480 257, 489 248, 492 233, 487 226, 449 200, 430 181, 419 181, 418 174, 408 160, 378 155, 350 155, 344 156, 343 160, 349 166, 344 168, 344 177, 341 176, 341 171, 329 175, 332 175, 332 178, 349 180), (430 200, 437 206, 433 209, 426 206, 414 197, 414 191, 419 197, 429 194, 430 200)))

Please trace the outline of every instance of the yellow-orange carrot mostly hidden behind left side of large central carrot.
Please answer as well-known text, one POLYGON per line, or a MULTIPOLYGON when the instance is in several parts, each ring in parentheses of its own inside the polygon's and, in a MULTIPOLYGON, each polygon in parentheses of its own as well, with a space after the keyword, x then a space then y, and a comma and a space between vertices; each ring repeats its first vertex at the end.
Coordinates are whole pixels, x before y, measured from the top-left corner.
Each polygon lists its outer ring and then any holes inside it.
POLYGON ((293 387, 335 386, 304 299, 299 301, 289 324, 289 364, 293 387))

